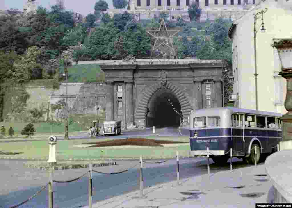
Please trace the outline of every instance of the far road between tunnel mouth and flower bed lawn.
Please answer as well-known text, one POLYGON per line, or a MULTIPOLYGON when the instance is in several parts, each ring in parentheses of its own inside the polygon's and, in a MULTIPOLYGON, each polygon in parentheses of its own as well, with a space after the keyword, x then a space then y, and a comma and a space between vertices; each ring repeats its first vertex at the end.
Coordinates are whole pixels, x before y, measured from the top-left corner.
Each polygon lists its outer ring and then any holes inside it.
MULTIPOLYGON (((181 129, 182 136, 189 136, 190 131, 188 128, 182 128, 181 129)), ((70 135, 70 134, 69 134, 70 135)), ((129 130, 129 131, 122 131, 121 135, 109 135, 109 136, 99 136, 98 138, 113 138, 113 139, 121 139, 121 138, 128 138, 129 136, 135 137, 135 136, 179 136, 177 128, 172 127, 165 127, 165 128, 156 128, 155 134, 153 134, 152 128, 147 128, 143 130, 129 130)), ((88 139, 89 135, 87 132, 81 133, 79 136, 69 136, 70 139, 88 139)), ((58 137, 58 140, 64 140, 64 136, 58 137)), ((34 141, 31 140, 14 140, 14 141, 0 141, 1 142, 18 142, 18 141, 34 141)), ((42 141, 42 140, 35 140, 35 141, 42 141)), ((44 141, 47 141, 47 139, 44 139, 44 141)))

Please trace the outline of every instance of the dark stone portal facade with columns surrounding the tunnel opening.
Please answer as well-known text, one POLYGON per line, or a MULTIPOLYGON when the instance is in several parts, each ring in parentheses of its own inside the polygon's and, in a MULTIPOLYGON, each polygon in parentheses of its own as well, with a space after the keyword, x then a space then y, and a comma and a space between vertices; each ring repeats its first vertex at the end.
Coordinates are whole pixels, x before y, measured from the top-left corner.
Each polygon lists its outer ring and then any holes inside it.
MULTIPOLYGON (((144 127, 149 101, 165 88, 178 99, 184 125, 191 110, 222 106, 222 60, 141 59, 100 65, 105 72, 106 120, 144 127)), ((167 115, 166 115, 167 116, 167 115)))

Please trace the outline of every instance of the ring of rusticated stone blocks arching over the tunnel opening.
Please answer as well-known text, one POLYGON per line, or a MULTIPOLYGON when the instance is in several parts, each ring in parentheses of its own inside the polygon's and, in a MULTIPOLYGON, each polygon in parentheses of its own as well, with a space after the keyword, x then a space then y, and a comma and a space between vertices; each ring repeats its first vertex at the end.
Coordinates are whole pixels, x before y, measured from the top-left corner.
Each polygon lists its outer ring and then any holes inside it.
POLYGON ((170 81, 166 82, 165 86, 161 86, 160 82, 154 83, 150 86, 146 86, 142 91, 142 97, 140 98, 140 101, 138 102, 137 109, 135 110, 135 115, 140 116, 143 115, 144 118, 146 117, 147 113, 147 105, 152 97, 152 95, 157 92, 157 90, 161 88, 167 88, 169 89, 173 95, 178 99, 181 106, 184 106, 184 111, 182 111, 183 116, 187 116, 186 113, 189 114, 190 111, 186 111, 189 109, 192 109, 190 104, 190 99, 187 95, 183 92, 181 89, 181 86, 177 86, 174 83, 171 83, 170 81))

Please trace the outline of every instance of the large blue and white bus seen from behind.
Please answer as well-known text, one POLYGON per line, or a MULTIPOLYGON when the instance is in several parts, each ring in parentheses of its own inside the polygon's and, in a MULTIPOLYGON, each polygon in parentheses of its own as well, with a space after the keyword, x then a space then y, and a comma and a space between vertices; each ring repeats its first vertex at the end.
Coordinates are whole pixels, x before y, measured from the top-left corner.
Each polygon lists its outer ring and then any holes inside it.
POLYGON ((200 109, 190 114, 190 155, 207 155, 215 163, 226 163, 227 153, 254 164, 277 151, 282 140, 282 114, 220 107, 200 109), (257 154, 255 148, 257 147, 257 154))

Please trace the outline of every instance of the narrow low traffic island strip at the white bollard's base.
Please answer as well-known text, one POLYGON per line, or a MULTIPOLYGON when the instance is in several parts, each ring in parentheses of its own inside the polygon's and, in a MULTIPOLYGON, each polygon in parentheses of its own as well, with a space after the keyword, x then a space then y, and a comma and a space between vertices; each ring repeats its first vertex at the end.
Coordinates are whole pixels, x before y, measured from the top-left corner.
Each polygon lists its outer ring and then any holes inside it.
MULTIPOLYGON (((92 163, 92 167, 100 167, 100 166, 110 166, 117 165, 117 162, 109 162, 109 163, 92 163)), ((69 170, 69 169, 77 169, 77 168, 88 168, 89 164, 68 164, 63 166, 38 166, 34 164, 25 164, 28 168, 38 169, 38 170, 69 170)))

